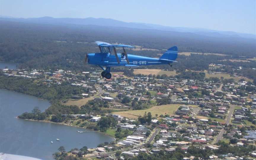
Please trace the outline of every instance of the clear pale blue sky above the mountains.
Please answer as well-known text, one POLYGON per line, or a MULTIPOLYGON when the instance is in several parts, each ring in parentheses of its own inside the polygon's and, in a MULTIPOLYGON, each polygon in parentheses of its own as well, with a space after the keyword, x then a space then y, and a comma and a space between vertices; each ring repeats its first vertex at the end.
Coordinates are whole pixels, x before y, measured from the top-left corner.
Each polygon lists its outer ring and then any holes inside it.
POLYGON ((256 34, 256 0, 0 0, 0 15, 111 18, 256 34))

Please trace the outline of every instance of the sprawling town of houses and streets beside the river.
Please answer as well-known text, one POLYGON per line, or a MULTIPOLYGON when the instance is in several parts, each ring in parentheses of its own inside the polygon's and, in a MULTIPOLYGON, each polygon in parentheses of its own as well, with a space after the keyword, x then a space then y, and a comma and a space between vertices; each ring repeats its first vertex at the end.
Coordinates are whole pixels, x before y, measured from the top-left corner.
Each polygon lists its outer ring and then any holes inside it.
MULTIPOLYGON (((38 79, 47 85, 66 81, 70 85, 88 88, 87 92, 74 95, 63 104, 73 102, 72 105, 76 105, 88 100, 108 102, 113 112, 105 116, 118 121, 111 130, 121 128, 127 131, 127 136, 88 148, 82 155, 80 150, 72 150, 69 155, 124 160, 140 152, 172 153, 178 148, 186 153, 191 145, 212 151, 218 151, 222 142, 231 146, 255 146, 256 92, 246 90, 247 87, 255 88, 246 79, 229 83, 171 76, 164 79, 146 75, 125 76, 119 72, 113 74, 112 79, 103 79, 100 72, 75 73, 62 69, 47 72, 37 69, 2 71, 5 76, 38 79), (147 117, 149 112, 150 122, 141 123, 140 118, 147 117)), ((97 123, 102 118, 102 115, 93 114, 63 116, 91 123, 97 123)), ((246 158, 256 159, 256 151, 251 151, 246 158)), ((195 156, 184 156, 183 159, 193 160, 195 156)), ((212 154, 208 159, 242 160, 244 156, 212 154)))

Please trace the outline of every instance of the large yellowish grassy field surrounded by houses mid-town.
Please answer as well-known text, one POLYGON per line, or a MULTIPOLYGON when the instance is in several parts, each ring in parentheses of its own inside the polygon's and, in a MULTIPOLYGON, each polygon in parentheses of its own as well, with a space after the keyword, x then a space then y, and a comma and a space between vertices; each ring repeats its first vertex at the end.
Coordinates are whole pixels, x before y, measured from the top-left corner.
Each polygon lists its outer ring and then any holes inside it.
POLYGON ((127 118, 137 119, 139 116, 143 116, 145 112, 151 112, 154 117, 156 114, 159 115, 173 115, 175 111, 180 107, 180 105, 160 105, 154 106, 146 110, 129 110, 124 112, 113 112, 114 114, 121 115, 127 118))

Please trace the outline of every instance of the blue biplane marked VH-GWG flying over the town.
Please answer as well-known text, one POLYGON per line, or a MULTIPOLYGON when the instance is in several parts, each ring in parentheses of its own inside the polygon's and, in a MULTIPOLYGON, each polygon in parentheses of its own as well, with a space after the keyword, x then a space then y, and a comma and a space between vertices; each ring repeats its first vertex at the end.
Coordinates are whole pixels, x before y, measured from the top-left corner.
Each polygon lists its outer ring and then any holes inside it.
POLYGON ((96 41, 100 48, 100 53, 86 54, 85 62, 99 66, 103 72, 102 77, 111 79, 111 67, 137 68, 146 65, 169 64, 175 61, 178 56, 176 46, 169 48, 160 58, 144 57, 139 55, 127 54, 125 48, 133 48, 130 45, 111 45, 110 43, 96 41), (116 48, 123 48, 123 53, 117 53, 116 48), (111 54, 111 53, 114 54, 111 54), (106 67, 106 69, 104 68, 106 67))

